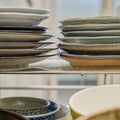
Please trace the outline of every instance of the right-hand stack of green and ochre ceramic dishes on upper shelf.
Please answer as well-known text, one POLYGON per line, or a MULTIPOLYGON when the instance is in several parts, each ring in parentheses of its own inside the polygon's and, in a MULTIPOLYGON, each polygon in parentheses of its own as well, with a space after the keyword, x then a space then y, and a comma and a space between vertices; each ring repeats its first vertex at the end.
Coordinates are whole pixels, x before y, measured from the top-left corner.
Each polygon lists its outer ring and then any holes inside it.
POLYGON ((120 18, 71 18, 60 21, 58 55, 77 70, 120 69, 120 18))

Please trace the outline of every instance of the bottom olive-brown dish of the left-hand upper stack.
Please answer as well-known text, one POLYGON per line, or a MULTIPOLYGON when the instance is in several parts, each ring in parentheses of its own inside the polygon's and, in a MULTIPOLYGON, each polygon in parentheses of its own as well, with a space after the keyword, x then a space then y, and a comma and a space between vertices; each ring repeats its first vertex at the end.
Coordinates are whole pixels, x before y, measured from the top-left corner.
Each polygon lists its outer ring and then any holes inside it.
POLYGON ((55 56, 56 54, 41 54, 39 56, 24 56, 24 57, 0 57, 0 70, 8 69, 24 69, 28 68, 28 64, 40 62, 48 57, 55 56))

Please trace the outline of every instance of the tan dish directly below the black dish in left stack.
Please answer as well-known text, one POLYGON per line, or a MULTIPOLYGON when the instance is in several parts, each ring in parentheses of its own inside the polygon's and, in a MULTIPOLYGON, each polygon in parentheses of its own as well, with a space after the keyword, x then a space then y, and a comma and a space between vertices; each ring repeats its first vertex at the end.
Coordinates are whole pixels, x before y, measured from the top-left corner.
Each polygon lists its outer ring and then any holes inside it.
POLYGON ((38 42, 53 37, 46 34, 0 33, 0 42, 38 42))

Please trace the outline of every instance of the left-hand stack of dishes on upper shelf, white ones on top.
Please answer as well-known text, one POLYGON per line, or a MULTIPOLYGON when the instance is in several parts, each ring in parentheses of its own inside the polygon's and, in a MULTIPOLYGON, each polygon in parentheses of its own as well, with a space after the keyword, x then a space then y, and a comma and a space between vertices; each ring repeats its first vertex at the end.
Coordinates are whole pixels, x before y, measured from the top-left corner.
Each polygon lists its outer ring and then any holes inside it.
POLYGON ((41 61, 55 48, 47 41, 47 27, 41 22, 49 11, 35 8, 0 8, 0 71, 19 70, 29 63, 41 61))

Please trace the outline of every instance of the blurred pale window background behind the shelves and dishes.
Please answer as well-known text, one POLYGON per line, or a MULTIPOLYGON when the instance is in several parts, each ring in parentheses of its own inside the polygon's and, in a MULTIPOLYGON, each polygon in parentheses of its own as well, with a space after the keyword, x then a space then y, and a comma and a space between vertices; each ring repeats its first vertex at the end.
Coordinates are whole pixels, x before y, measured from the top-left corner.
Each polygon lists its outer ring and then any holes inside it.
MULTIPOLYGON (((0 6, 34 7, 50 10, 50 18, 41 25, 49 27, 49 33, 62 37, 59 21, 66 18, 88 18, 97 16, 119 16, 120 0, 0 0, 0 6)), ((85 75, 0 75, 0 85, 24 86, 83 86, 104 84, 104 74, 85 75)), ((107 75, 107 84, 119 83, 119 75, 107 75)), ((32 96, 52 99, 68 104, 70 96, 77 90, 1 90, 1 97, 32 96), (64 96, 64 97, 63 97, 64 96)))

